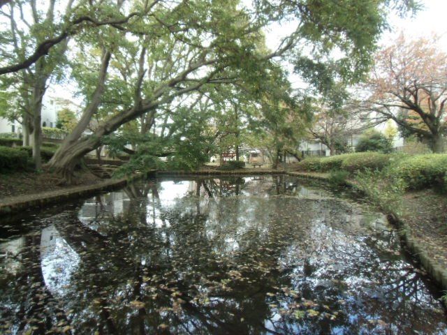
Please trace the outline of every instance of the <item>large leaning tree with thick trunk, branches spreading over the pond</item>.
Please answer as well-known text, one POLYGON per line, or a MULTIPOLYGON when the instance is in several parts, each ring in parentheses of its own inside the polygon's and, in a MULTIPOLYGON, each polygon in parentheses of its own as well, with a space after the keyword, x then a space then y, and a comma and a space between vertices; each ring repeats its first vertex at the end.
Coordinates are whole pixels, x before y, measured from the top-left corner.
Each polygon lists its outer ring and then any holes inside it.
MULTIPOLYGON (((101 145, 103 136, 135 119, 152 124, 161 108, 204 86, 233 84, 256 90, 270 76, 273 59, 284 55, 315 86, 328 85, 320 80, 321 73, 357 80, 369 65, 390 2, 400 1, 349 0, 346 6, 332 1, 254 1, 250 8, 236 0, 75 3, 73 14, 54 28, 57 34, 45 37, 55 36, 57 42, 45 44, 46 51, 73 36, 75 48, 82 54, 96 49, 101 61, 89 66, 88 84, 81 87, 85 110, 49 167, 69 179, 75 164, 101 145), (263 27, 289 19, 297 22, 296 29, 278 50, 261 47, 263 27), (344 56, 330 61, 336 47, 344 56), (152 75, 155 69, 157 77, 152 75), (118 88, 118 94, 112 96, 109 85, 118 88), (99 112, 102 121, 90 136, 82 137, 99 112)), ((26 64, 18 68, 36 61, 29 60, 29 54, 39 42, 29 45, 18 59, 26 64)), ((14 59, 8 64, 14 66, 14 59)))

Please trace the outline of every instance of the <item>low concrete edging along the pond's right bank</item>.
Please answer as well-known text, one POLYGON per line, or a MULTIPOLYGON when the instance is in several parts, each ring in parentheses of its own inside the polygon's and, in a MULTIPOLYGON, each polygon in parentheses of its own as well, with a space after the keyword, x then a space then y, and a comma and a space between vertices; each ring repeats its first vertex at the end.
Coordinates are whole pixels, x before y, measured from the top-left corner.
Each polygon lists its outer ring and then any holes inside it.
MULTIPOLYGON (((328 181, 328 177, 321 174, 312 174, 308 172, 286 172, 288 175, 301 177, 305 179, 314 179, 320 181, 328 181)), ((350 181, 346 181, 346 186, 357 188, 357 186, 350 181)), ((365 193, 367 197, 369 195, 365 193)), ((441 287, 441 290, 447 291, 447 269, 441 267, 435 260, 429 257, 425 252, 426 246, 416 241, 416 238, 411 234, 411 228, 408 224, 402 221, 395 213, 386 213, 388 222, 397 228, 400 235, 400 240, 406 246, 408 251, 420 263, 421 267, 429 274, 429 276, 441 287)))

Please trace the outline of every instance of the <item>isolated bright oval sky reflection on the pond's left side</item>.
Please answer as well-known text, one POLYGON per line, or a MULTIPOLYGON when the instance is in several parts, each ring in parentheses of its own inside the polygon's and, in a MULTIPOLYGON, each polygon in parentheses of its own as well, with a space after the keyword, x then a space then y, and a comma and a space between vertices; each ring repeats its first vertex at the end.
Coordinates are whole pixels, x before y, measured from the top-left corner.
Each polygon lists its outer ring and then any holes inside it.
POLYGON ((54 225, 42 230, 41 267, 45 284, 53 293, 64 295, 76 271, 80 257, 64 239, 54 225))

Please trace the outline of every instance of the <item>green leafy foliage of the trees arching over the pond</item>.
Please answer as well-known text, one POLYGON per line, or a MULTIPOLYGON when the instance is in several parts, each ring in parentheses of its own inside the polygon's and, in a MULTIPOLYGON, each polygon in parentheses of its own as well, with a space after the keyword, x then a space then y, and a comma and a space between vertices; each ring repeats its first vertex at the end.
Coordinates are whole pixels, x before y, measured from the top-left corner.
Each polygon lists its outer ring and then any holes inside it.
MULTIPOLYGON (((6 64, 19 61, 21 55, 31 54, 34 45, 58 36, 61 29, 67 28, 66 24, 74 17, 114 21, 122 19, 129 11, 135 10, 135 15, 131 15, 132 20, 124 20, 122 24, 112 26, 82 24, 71 27, 68 35, 71 36, 71 43, 75 43, 74 50, 77 50, 70 61, 71 71, 64 71, 66 40, 63 40, 52 47, 47 57, 39 59, 36 66, 29 68, 34 73, 30 73, 29 78, 24 78, 26 80, 22 80, 22 84, 16 87, 11 83, 5 85, 10 90, 21 92, 22 101, 30 101, 27 92, 32 91, 32 87, 28 85, 35 82, 34 77, 43 78, 44 84, 41 87, 45 87, 45 81, 50 78, 60 80, 64 73, 70 72, 71 77, 78 82, 79 93, 86 105, 89 105, 94 97, 98 98, 94 92, 97 91, 100 59, 107 50, 112 53, 112 59, 101 90, 101 103, 94 112, 96 120, 92 121, 108 120, 107 126, 101 127, 107 130, 106 133, 117 130, 129 121, 135 121, 135 126, 142 133, 152 131, 154 125, 154 133, 158 131, 161 137, 155 140, 158 147, 154 148, 151 144, 151 149, 156 149, 155 151, 141 152, 157 157, 160 152, 165 154, 168 149, 167 165, 179 164, 193 168, 204 161, 207 156, 205 153, 210 152, 212 145, 215 146, 210 140, 214 137, 210 136, 214 135, 210 130, 220 133, 221 137, 216 135, 214 138, 221 139, 223 132, 219 132, 219 126, 228 126, 229 123, 221 118, 221 125, 210 129, 208 125, 210 121, 218 119, 216 115, 200 117, 184 105, 196 98, 194 94, 203 94, 212 101, 212 106, 205 107, 203 111, 218 110, 218 105, 232 105, 230 98, 215 100, 215 96, 211 94, 214 87, 220 89, 224 87, 223 84, 228 84, 226 87, 231 88, 228 96, 236 97, 234 100, 239 101, 242 100, 242 94, 237 90, 249 91, 249 98, 244 98, 253 105, 256 104, 255 109, 261 110, 256 115, 256 121, 263 128, 263 147, 268 148, 276 164, 280 154, 296 145, 297 137, 302 133, 302 125, 309 118, 309 106, 305 103, 305 96, 301 94, 300 99, 294 96, 283 66, 272 60, 273 55, 265 47, 263 27, 283 20, 298 23, 299 29, 281 41, 284 50, 281 49, 274 55, 281 57, 288 49, 288 61, 293 62, 295 72, 301 73, 318 91, 327 93, 335 85, 335 78, 355 82, 365 73, 371 63, 370 56, 374 51, 376 38, 386 27, 388 3, 386 0, 348 0, 344 6, 340 6, 337 1, 299 0, 273 4, 271 1, 258 0, 254 1, 253 8, 245 8, 237 0, 179 1, 175 6, 174 3, 173 6, 166 6, 165 3, 155 1, 148 13, 147 3, 144 1, 131 1, 123 7, 107 1, 85 1, 68 8, 69 15, 65 15, 64 8, 56 3, 55 10, 60 15, 49 15, 48 20, 43 18, 45 10, 39 10, 38 16, 42 20, 36 20, 38 23, 31 26, 22 22, 19 10, 15 10, 12 19, 21 22, 16 27, 20 31, 15 34, 19 37, 20 47, 15 45, 17 42, 12 43, 15 38, 11 34, 14 32, 3 29, 2 32, 7 37, 3 37, 5 43, 1 51, 8 54, 14 47, 18 49, 13 53, 17 57, 8 57, 6 64), (312 47, 312 53, 303 52, 302 45, 312 47), (332 50, 339 51, 337 59, 332 59, 332 50), (147 73, 144 76, 137 73, 138 66, 135 66, 140 55, 141 64, 145 64, 140 70, 147 73), (196 64, 198 68, 194 68, 196 64), (140 77, 142 82, 138 79, 140 77), (233 85, 234 83, 237 85, 233 85), (187 98, 186 94, 191 94, 191 98, 187 98), (179 98, 180 96, 185 99, 179 98), (298 103, 298 100, 302 103, 298 103), (140 110, 142 106, 145 106, 142 109, 145 111, 156 110, 152 120, 145 120, 145 115, 140 110), (166 109, 164 114, 163 108, 166 109), (143 124, 149 124, 149 129, 145 129, 143 124), (203 143, 207 144, 206 147, 203 143), (181 151, 183 149, 185 151, 181 151)), ((26 5, 25 13, 32 10, 28 3, 23 5, 26 5)), ((8 24, 5 27, 9 27, 8 24)), ((27 71, 21 73, 26 74, 27 71)), ((5 78, 10 79, 12 76, 5 78)), ((339 98, 341 95, 337 94, 335 97, 339 98)), ((223 144, 239 145, 243 130, 241 124, 248 123, 240 115, 231 121, 228 131, 230 134, 226 134, 228 137, 223 144)), ((65 131, 71 128, 64 126, 61 116, 58 126, 65 131)), ((62 136, 55 132, 44 129, 44 134, 49 137, 62 136)), ((103 133, 98 131, 97 135, 100 140, 103 133)), ((136 142, 135 144, 137 145, 134 147, 140 146, 136 142)), ((86 148, 86 151, 87 149, 90 148, 86 148)), ((64 154, 70 156, 73 151, 67 150, 64 154)), ((147 158, 149 161, 151 159, 155 158, 147 158)), ((147 160, 137 161, 141 163, 147 160)))

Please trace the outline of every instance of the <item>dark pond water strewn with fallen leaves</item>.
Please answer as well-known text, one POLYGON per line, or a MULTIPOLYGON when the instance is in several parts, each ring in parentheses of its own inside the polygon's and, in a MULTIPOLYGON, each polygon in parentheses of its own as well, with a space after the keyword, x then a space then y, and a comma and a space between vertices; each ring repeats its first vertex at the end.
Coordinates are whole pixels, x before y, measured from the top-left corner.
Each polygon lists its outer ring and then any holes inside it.
POLYGON ((383 214, 302 183, 152 180, 10 223, 0 333, 447 334, 383 214))

